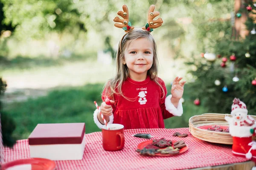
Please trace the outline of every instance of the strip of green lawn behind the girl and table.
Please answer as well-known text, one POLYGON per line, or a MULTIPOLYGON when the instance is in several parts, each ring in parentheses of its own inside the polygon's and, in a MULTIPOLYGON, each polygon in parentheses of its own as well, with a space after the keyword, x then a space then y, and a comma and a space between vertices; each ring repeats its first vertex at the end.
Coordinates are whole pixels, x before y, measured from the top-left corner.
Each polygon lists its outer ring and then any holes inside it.
MULTIPOLYGON (((13 136, 16 139, 27 139, 38 123, 85 122, 86 133, 100 131, 93 121, 93 101, 101 101, 102 87, 103 84, 65 87, 37 99, 6 104, 4 111, 16 122, 13 136)), ((168 91, 170 88, 167 86, 168 91)), ((186 85, 186 88, 189 88, 189 85, 186 85)), ((185 90, 183 98, 183 115, 166 119, 166 128, 188 127, 191 116, 204 113, 204 109, 195 106, 189 98, 189 89, 185 90)))

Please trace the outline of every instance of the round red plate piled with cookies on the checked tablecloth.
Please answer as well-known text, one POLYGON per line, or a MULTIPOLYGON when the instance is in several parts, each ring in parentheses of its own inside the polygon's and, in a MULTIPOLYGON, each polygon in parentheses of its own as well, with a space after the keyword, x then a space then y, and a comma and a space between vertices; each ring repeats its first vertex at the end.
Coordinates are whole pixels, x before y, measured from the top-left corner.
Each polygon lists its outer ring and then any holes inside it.
POLYGON ((143 156, 174 156, 188 150, 187 144, 180 141, 172 141, 164 138, 141 142, 136 152, 143 156))

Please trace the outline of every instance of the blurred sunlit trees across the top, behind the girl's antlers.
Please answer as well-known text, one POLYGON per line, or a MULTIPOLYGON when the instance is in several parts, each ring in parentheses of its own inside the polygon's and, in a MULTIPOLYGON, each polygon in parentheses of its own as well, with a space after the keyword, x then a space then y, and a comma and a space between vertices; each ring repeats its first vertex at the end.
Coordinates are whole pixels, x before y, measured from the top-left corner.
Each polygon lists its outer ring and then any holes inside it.
POLYGON ((175 52, 187 50, 181 44, 184 42, 187 45, 191 40, 196 41, 192 45, 197 44, 199 51, 212 50, 210 47, 223 36, 220 30, 227 30, 223 28, 230 26, 222 21, 218 22, 218 19, 230 19, 233 6, 233 0, 1 1, 5 16, 3 24, 15 28, 15 37, 19 39, 41 39, 48 33, 63 31, 72 33, 77 39, 80 32, 77 30, 85 33, 93 31, 102 38, 99 44, 111 53, 114 51, 113 46, 116 46, 116 37, 122 34, 121 30, 113 31, 113 18, 116 17, 117 11, 122 10, 123 4, 127 4, 130 21, 137 28, 145 26, 148 7, 155 4, 156 10, 160 11, 160 17, 164 20, 163 27, 161 31, 157 31, 156 37, 163 40, 163 43, 168 43, 175 52))

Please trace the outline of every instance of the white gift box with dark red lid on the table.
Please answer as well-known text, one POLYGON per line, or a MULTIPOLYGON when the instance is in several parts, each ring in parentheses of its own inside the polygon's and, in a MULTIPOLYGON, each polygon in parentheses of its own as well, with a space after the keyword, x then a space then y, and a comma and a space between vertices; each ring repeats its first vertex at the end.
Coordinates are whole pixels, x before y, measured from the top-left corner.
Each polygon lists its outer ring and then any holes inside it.
POLYGON ((38 124, 29 135, 31 158, 81 160, 85 123, 38 124))

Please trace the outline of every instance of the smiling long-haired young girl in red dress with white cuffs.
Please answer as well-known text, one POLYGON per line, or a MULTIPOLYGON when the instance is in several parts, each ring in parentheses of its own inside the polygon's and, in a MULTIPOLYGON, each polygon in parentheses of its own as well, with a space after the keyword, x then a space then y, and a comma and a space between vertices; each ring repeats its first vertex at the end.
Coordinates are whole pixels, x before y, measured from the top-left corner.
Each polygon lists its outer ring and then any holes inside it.
MULTIPOLYGON (((172 95, 166 97, 166 86, 157 77, 157 68, 157 46, 150 31, 133 29, 126 33, 117 51, 116 76, 102 92, 100 108, 108 124, 122 124, 125 129, 164 128, 163 119, 182 115, 180 98, 185 81, 176 77, 172 95), (104 102, 107 97, 111 105, 104 102)), ((93 119, 102 128, 104 122, 97 109, 93 119)))

